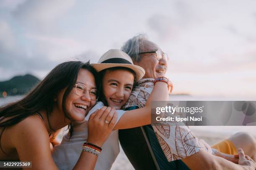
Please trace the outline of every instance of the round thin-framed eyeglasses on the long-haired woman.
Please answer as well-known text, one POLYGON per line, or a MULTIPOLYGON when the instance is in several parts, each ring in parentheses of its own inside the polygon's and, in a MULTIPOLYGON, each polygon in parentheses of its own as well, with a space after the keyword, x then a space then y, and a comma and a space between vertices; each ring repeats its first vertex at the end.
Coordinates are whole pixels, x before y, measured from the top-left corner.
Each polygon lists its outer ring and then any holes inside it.
MULTIPOLYGON (((79 96, 83 96, 87 92, 87 86, 82 83, 75 84, 74 87, 75 87, 77 95, 79 95, 79 96)), ((89 95, 91 97, 91 100, 97 101, 99 92, 96 89, 91 89, 91 90, 89 90, 89 95)))

